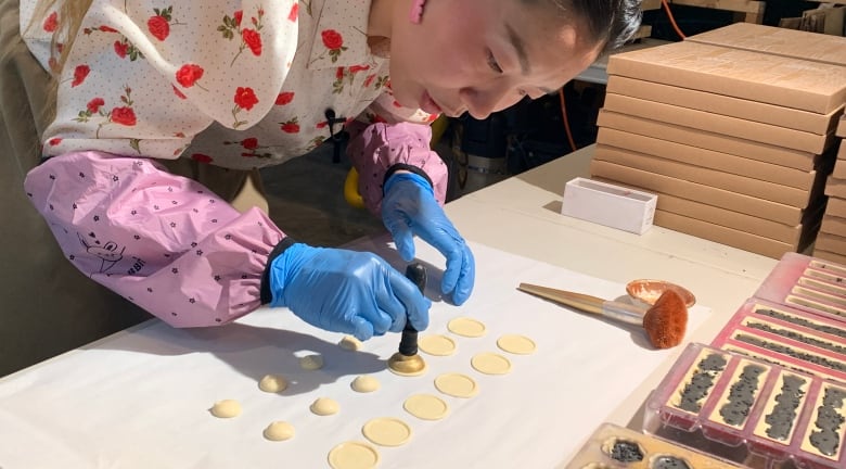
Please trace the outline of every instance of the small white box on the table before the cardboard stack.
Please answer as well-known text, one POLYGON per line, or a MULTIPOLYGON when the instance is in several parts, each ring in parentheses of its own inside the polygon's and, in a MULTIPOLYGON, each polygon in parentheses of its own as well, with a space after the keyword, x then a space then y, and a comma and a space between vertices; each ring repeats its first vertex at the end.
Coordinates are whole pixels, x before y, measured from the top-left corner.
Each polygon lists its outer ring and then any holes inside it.
POLYGON ((652 227, 658 197, 577 177, 564 188, 562 215, 643 234, 652 227))

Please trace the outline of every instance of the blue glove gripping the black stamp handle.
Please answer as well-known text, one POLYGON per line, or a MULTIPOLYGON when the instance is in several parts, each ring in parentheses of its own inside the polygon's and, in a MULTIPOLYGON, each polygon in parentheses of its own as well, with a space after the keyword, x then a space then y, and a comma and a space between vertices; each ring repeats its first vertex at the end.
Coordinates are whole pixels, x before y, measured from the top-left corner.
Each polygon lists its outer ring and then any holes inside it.
POLYGON ((428 326, 432 302, 372 253, 295 243, 272 261, 269 280, 271 306, 362 341, 401 332, 407 318, 416 330, 428 326))

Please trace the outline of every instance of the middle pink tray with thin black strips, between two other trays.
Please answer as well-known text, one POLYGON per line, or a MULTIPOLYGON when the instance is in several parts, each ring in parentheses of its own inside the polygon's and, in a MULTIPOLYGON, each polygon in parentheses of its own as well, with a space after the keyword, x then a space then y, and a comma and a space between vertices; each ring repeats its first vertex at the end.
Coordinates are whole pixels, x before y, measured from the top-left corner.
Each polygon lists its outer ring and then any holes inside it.
POLYGON ((712 345, 846 383, 846 325, 837 319, 749 299, 712 345))

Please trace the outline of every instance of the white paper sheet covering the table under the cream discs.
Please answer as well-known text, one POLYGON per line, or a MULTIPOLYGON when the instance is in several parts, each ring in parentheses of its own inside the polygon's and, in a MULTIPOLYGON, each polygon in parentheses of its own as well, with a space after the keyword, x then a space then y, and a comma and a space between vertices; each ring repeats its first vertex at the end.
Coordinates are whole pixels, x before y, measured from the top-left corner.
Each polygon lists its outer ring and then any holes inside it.
MULTIPOLYGON (((405 269, 385 239, 360 242, 405 269)), ((461 307, 437 299, 438 268, 431 267, 435 297, 425 333, 453 338, 448 357, 424 355, 428 372, 398 377, 385 368, 399 334, 376 338, 350 352, 342 334, 317 330, 286 309, 261 309, 236 324, 179 330, 158 321, 120 333, 0 380, 0 468, 260 469, 325 468, 330 449, 364 441, 361 427, 374 417, 398 417, 412 429, 398 447, 379 447, 381 468, 551 468, 571 456, 668 351, 652 350, 645 337, 595 317, 580 315, 516 290, 521 282, 569 289, 607 299, 624 286, 548 264, 474 245, 476 288, 461 307), (437 271, 436 271, 437 270, 437 271), (482 338, 447 331, 458 316, 487 326, 482 338), (499 351, 507 333, 537 343, 531 355, 499 351), (478 352, 507 355, 504 376, 475 371, 478 352), (320 353, 325 366, 306 371, 298 356, 320 353), (440 394, 443 372, 471 376, 479 386, 472 398, 440 394), (291 382, 281 394, 258 389, 267 373, 291 382), (369 394, 349 384, 372 375, 382 388, 369 394), (450 406, 443 420, 424 421, 402 408, 415 393, 439 395, 450 406), (341 404, 319 417, 309 405, 326 396, 341 404), (241 402, 232 419, 213 417, 219 400, 241 402), (262 430, 273 420, 296 429, 293 440, 270 442, 262 430)), ((441 256, 418 243, 418 256, 441 266, 441 256)), ((21 312, 25 314, 25 312, 21 312)), ((690 329, 707 308, 691 310, 690 329)))

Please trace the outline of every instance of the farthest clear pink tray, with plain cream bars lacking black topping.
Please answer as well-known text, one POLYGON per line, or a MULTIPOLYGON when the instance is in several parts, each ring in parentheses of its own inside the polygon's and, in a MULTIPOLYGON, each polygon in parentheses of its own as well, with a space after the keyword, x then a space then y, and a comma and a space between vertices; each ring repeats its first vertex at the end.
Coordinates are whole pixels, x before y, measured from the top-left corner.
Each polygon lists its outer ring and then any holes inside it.
POLYGON ((755 296, 846 322, 846 265, 785 253, 755 296))

